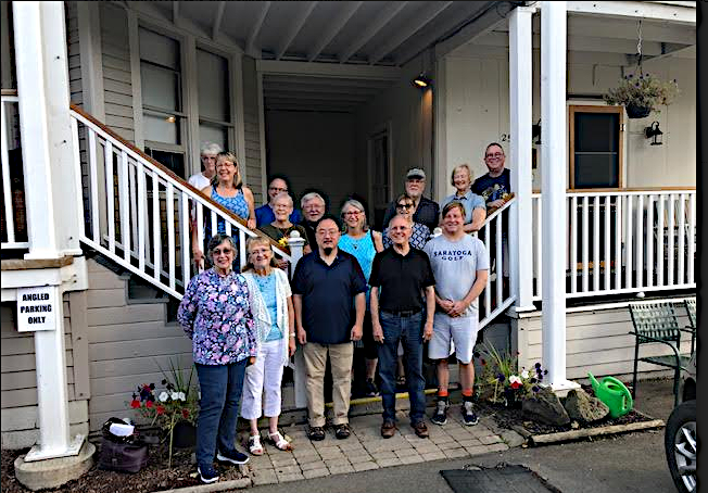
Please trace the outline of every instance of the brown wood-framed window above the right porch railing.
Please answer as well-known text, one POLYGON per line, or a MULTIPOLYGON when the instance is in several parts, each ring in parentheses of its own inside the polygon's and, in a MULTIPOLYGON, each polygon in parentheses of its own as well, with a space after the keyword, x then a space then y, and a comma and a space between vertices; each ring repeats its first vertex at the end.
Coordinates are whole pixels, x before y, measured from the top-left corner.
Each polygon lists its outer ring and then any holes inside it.
POLYGON ((570 188, 622 187, 622 108, 570 106, 570 188))

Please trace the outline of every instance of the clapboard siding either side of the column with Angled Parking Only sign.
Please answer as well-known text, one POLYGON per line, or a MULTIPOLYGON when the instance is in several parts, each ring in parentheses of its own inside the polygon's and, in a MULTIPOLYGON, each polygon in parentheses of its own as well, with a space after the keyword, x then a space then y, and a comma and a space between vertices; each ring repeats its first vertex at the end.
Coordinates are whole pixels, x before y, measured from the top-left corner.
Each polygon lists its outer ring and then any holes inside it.
MULTIPOLYGON (((88 433, 88 374, 80 293, 64 294, 64 344, 69 432, 88 433), (71 301, 69 301, 71 300, 71 301)), ((2 448, 24 448, 39 439, 35 340, 17 332, 16 303, 0 307, 2 448)))

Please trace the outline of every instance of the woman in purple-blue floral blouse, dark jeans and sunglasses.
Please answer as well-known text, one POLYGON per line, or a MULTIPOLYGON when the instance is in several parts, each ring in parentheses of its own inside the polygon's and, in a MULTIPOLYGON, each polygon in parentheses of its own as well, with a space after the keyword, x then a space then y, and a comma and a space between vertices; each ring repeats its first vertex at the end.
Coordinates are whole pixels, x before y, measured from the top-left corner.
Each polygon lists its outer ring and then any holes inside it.
POLYGON ((235 448, 236 425, 245 367, 258 353, 251 293, 243 276, 232 270, 236 244, 231 237, 214 236, 207 255, 214 267, 189 281, 177 313, 177 320, 192 340, 199 376, 197 466, 204 483, 218 480, 215 453, 219 462, 249 460, 235 448))

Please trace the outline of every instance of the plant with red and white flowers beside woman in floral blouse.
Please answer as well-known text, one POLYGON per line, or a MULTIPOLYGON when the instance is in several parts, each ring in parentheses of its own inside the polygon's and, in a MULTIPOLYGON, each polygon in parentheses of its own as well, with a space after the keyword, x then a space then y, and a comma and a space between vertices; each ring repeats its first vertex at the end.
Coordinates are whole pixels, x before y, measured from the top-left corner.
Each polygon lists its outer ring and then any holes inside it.
POLYGON ((194 367, 190 369, 189 377, 185 378, 172 359, 169 366, 169 375, 162 367, 160 368, 165 377, 162 380, 164 390, 156 393, 154 383, 142 383, 138 385, 130 401, 130 407, 142 417, 150 419, 150 426, 157 426, 161 429, 162 440, 169 440, 167 467, 172 467, 174 446, 194 445, 199 412, 198 392, 192 387, 194 367))

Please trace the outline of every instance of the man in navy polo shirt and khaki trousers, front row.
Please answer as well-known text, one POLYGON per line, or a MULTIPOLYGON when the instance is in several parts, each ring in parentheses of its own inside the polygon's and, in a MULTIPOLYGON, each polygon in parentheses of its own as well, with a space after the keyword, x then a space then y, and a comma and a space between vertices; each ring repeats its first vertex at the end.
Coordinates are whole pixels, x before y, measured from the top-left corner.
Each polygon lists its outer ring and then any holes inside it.
POLYGON ((362 339, 366 279, 356 258, 337 248, 340 235, 338 219, 323 216, 315 225, 317 250, 300 260, 292 279, 295 327, 307 372, 307 435, 311 440, 325 439, 324 388, 328 354, 332 370, 334 435, 345 439, 351 434, 352 341, 362 339))

